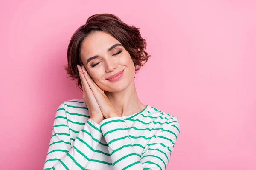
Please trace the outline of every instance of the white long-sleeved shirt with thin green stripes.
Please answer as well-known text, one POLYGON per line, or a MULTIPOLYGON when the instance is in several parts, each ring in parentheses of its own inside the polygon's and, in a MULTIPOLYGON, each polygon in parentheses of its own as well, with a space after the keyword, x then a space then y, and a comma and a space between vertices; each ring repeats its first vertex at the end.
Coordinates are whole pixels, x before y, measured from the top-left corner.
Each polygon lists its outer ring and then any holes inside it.
POLYGON ((165 170, 180 133, 178 118, 147 105, 97 124, 84 99, 59 105, 44 170, 165 170))

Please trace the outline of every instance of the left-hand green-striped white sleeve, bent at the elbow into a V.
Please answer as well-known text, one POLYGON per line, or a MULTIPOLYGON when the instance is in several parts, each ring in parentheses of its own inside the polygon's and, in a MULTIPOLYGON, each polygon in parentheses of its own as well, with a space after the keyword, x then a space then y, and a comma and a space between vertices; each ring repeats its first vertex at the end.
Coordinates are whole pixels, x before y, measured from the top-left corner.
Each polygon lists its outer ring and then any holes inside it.
POLYGON ((44 170, 84 169, 102 138, 99 124, 88 119, 76 139, 70 138, 64 103, 56 112, 44 170), (71 146, 71 140, 74 140, 71 146))

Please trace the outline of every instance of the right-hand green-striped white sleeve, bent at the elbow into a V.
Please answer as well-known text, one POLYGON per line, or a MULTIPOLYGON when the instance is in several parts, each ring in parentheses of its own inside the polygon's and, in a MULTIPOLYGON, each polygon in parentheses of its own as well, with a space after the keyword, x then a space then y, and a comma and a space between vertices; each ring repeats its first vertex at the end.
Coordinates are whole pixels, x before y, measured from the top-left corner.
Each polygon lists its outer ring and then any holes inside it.
POLYGON ((161 126, 161 131, 150 137, 129 135, 128 127, 122 117, 105 119, 100 122, 100 128, 108 143, 115 170, 165 170, 180 133, 180 124, 176 117, 168 119, 161 126), (141 155, 134 151, 131 138, 144 138, 148 141, 145 147, 140 145, 144 149, 141 155))

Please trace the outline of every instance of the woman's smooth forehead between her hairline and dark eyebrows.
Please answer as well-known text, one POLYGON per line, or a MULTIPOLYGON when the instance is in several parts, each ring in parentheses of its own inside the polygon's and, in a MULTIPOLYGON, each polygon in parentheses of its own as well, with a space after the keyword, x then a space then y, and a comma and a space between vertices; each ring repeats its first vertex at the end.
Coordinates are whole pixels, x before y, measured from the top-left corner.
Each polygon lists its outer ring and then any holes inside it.
POLYGON ((112 45, 120 43, 110 34, 96 31, 87 36, 81 45, 81 56, 84 59, 95 55, 104 55, 112 45))

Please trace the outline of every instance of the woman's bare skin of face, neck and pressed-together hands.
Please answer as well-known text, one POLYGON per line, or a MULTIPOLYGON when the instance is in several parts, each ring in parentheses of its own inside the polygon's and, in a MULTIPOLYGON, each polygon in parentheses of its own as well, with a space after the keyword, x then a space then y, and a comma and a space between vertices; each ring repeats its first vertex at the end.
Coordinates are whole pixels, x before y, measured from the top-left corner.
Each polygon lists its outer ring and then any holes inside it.
POLYGON ((85 68, 83 70, 78 65, 78 69, 83 96, 87 105, 89 104, 88 107, 91 107, 89 111, 92 111, 92 118, 98 123, 104 117, 127 116, 146 107, 137 96, 134 83, 135 66, 128 51, 123 46, 108 51, 108 48, 116 43, 121 44, 110 34, 96 31, 90 34, 81 46, 81 59, 85 68), (120 51, 122 52, 113 55, 120 51), (87 64, 87 59, 95 55, 99 57, 87 64), (92 67, 98 62, 98 65, 92 67), (124 73, 121 79, 116 82, 107 80, 109 76, 122 70, 124 73), (85 74, 86 72, 88 74, 85 74))

